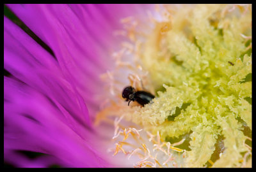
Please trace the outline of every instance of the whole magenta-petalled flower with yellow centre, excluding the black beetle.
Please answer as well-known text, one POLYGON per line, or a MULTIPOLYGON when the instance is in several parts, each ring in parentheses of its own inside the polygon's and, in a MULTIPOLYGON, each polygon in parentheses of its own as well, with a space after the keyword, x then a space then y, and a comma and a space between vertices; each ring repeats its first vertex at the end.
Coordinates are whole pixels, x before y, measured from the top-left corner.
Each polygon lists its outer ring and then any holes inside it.
POLYGON ((4 17, 4 161, 252 166, 250 4, 7 6, 52 53, 4 17))

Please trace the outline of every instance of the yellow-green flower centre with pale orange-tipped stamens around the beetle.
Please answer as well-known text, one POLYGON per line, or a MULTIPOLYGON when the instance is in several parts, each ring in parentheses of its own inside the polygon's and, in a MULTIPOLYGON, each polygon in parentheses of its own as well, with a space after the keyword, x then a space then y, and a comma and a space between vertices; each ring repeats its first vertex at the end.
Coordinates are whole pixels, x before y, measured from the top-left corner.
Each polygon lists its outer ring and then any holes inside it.
POLYGON ((95 122, 114 124, 110 150, 128 159, 137 155, 136 167, 250 166, 251 6, 156 9, 163 11, 161 20, 150 18, 155 27, 146 36, 136 30, 144 23, 122 20, 129 42, 113 54, 114 71, 102 75, 113 99, 95 122), (132 87, 156 95, 152 103, 127 106, 121 96, 124 75, 132 87))

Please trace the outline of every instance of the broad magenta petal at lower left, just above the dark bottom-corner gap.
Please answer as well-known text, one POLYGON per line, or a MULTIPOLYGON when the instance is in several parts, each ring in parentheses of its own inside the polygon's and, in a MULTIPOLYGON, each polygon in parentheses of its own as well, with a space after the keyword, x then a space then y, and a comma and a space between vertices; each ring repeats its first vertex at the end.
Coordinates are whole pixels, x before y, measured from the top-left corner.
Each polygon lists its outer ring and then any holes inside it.
POLYGON ((54 155, 66 166, 106 166, 90 147, 92 131, 79 124, 74 130, 68 122, 43 94, 4 77, 4 150, 54 155))

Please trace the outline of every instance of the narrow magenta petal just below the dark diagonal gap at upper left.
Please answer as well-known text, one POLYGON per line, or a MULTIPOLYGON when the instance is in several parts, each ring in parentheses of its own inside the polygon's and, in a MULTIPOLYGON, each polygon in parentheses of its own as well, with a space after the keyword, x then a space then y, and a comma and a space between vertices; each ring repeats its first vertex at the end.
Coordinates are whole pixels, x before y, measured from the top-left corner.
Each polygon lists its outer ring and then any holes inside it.
POLYGON ((63 76, 56 61, 8 18, 4 18, 4 68, 22 82, 56 99, 77 120, 90 124, 83 99, 63 76))

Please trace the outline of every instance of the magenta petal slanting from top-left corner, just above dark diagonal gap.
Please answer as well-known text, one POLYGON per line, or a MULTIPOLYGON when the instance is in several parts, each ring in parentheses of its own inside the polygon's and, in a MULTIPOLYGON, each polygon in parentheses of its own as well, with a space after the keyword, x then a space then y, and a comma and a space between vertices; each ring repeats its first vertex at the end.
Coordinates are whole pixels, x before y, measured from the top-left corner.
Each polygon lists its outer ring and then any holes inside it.
MULTIPOLYGON (((109 52, 104 50, 96 37, 105 38, 104 28, 95 34, 88 32, 84 24, 65 4, 10 4, 19 18, 52 48, 60 70, 74 91, 84 101, 95 106, 95 94, 102 93, 100 73, 113 66, 109 52), (92 89, 93 88, 93 89, 92 89)), ((99 29, 93 20, 86 22, 99 29)), ((111 39, 109 44, 111 45, 111 39)), ((98 105, 97 105, 98 106, 98 105)), ((95 113, 94 110, 89 111, 95 113)))

